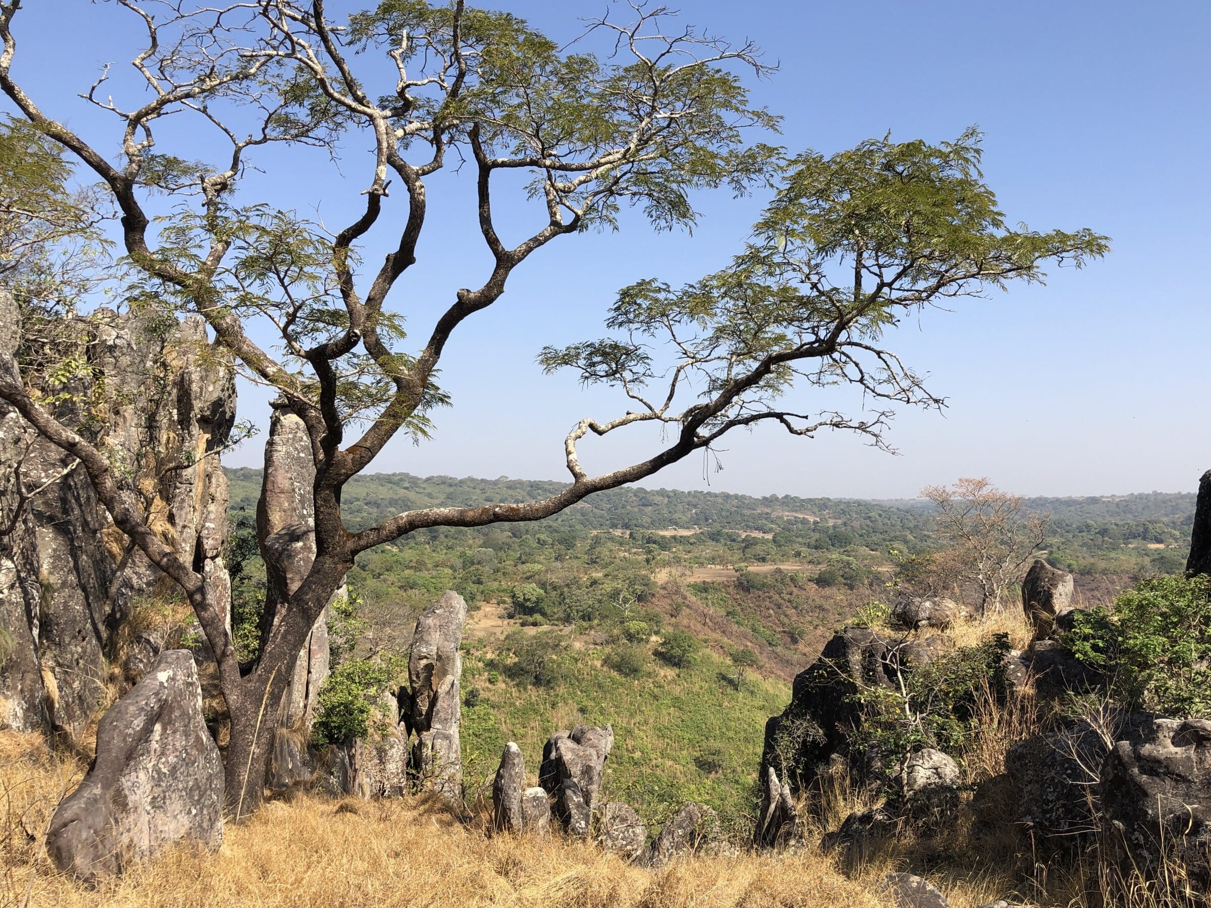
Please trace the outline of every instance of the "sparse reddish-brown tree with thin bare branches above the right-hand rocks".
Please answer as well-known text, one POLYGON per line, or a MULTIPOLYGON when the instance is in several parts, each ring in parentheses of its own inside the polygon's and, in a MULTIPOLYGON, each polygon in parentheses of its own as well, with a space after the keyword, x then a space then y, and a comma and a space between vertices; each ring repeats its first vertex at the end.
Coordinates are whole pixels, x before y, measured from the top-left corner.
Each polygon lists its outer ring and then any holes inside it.
POLYGON ((937 534, 951 547, 940 561, 976 585, 981 614, 999 610, 1005 591, 1043 545, 1049 517, 1027 511, 1021 498, 987 478, 928 485, 920 495, 937 508, 937 534))

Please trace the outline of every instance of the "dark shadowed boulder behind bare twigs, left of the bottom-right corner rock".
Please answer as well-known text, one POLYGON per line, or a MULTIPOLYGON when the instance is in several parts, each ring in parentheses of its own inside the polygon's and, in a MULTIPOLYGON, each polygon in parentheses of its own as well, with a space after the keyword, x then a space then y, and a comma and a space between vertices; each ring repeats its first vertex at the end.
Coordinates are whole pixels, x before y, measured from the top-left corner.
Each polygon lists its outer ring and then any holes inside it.
POLYGON ((1110 717, 1110 726, 1089 722, 1020 741, 1005 753, 1005 771, 1017 805, 1016 822, 1039 846, 1077 847, 1095 832, 1097 783, 1113 740, 1146 717, 1110 717))

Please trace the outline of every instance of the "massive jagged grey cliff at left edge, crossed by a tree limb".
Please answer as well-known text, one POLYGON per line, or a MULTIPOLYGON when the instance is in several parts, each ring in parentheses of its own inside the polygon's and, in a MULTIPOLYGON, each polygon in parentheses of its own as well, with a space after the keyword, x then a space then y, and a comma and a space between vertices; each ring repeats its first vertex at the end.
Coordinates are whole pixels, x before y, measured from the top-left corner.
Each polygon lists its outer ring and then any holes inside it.
MULTIPOLYGON (((12 301, 0 300, 0 352, 17 349, 17 322, 12 301)), ((154 315, 102 309, 74 327, 69 352, 87 369, 44 389, 58 400, 56 415, 133 476, 151 528, 224 587, 228 492, 217 453, 235 423, 231 369, 200 318, 165 329, 154 315)), ((19 650, 0 666, 0 722, 75 741, 107 682, 136 680, 137 671, 107 677, 128 655, 119 631, 171 584, 113 525, 74 459, 2 404, 0 476, 0 622, 19 650)), ((139 640, 137 667, 168 643, 139 640)))

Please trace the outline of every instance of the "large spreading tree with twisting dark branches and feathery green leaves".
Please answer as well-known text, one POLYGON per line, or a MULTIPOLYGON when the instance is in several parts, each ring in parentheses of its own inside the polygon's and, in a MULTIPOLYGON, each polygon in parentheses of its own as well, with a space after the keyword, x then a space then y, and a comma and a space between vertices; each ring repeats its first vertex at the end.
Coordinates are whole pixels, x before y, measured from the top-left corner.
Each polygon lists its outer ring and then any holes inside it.
MULTIPOLYGON (((79 458, 115 525, 188 596, 231 718, 229 805, 242 801, 245 814, 260 801, 272 737, 264 728, 258 734, 258 711, 282 696, 300 645, 358 553, 424 528, 541 519, 763 421, 805 437, 856 431, 883 446, 895 403, 942 403, 879 345, 901 316, 1012 278, 1038 280, 1048 259, 1080 264, 1104 249, 1087 230, 1006 229, 981 180, 974 132, 939 146, 867 142, 832 157, 787 159, 747 144, 751 127, 776 126, 750 103, 741 79, 763 73, 754 48, 665 31, 662 11, 642 5, 630 7, 627 24, 590 23, 590 40, 609 39, 604 58, 580 45, 561 50, 516 17, 463 0, 385 0, 339 27, 323 0, 117 6, 145 34, 132 64, 147 96, 125 107, 103 97, 108 71, 86 92, 114 117, 116 160, 56 119, 13 73, 21 0, 0 0, 0 90, 91 169, 116 206, 125 258, 114 268, 126 269, 128 303, 203 317, 216 352, 276 389, 306 426, 316 557, 295 590, 275 592, 274 620, 251 665, 236 657, 220 592, 156 536, 128 479, 42 406, 11 358, 0 362, 0 398, 79 458), (358 51, 389 62, 386 85, 378 84, 383 67, 372 56, 356 59, 358 51), (225 140, 219 162, 160 150, 155 137, 170 115, 178 125, 193 116, 196 130, 225 140), (249 199, 243 177, 258 149, 279 146, 257 159, 260 168, 288 172, 295 154, 309 154, 299 146, 311 145, 354 171, 361 159, 342 155, 339 143, 357 142, 374 154, 357 186, 361 213, 339 231, 249 199), (452 292, 427 338, 409 349, 389 297, 401 297, 417 258, 425 180, 452 163, 472 171, 466 241, 482 242, 492 264, 478 286, 452 292), (540 212, 534 232, 516 245, 494 219, 501 172, 528 177, 540 212), (572 368, 629 400, 622 415, 585 418, 563 439, 567 488, 526 504, 420 508, 358 531, 344 525, 345 483, 401 432, 429 432, 431 409, 446 401, 434 377, 447 343, 501 298, 527 258, 561 237, 616 226, 624 205, 658 229, 689 226, 696 190, 775 182, 773 202, 734 262, 688 287, 632 285, 610 311, 610 337, 541 352, 546 369, 572 368), (157 194, 168 197, 167 211, 150 207, 157 194), (392 251, 363 265, 360 245, 384 234, 392 251), (282 356, 254 340, 266 328, 282 356), (659 393, 649 395, 658 383, 659 393), (796 384, 850 385, 878 404, 853 415, 780 406, 796 384), (602 475, 581 466, 578 447, 587 435, 645 423, 668 437, 650 456, 602 475)), ((111 144, 107 138, 103 146, 111 144)))

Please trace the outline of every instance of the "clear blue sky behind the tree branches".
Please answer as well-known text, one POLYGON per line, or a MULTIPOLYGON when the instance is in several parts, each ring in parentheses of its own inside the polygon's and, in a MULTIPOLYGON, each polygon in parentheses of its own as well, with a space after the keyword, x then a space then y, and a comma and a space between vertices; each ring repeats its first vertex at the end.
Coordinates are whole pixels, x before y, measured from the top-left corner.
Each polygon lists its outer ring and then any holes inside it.
MULTIPOLYGON (((566 39, 604 2, 495 6, 566 39)), ((1054 271, 1046 287, 905 326, 894 347, 931 375, 949 407, 945 415, 902 412, 890 435, 900 456, 840 435, 807 441, 767 429, 723 446, 724 470, 711 473, 710 488, 893 498, 959 476, 1046 495, 1195 488, 1211 467, 1211 308, 1201 274, 1211 247, 1211 4, 682 0, 679 8, 717 34, 756 40, 781 63, 754 94, 785 117, 790 148, 834 151, 888 130, 940 140, 977 123, 986 177, 1011 222, 1090 226, 1113 239, 1107 259, 1054 271)), ((15 30, 18 77, 47 113, 111 149, 113 132, 99 130, 113 127, 74 92, 101 63, 130 58, 130 13, 34 0, 15 30)), ((279 205, 318 207, 331 223, 357 205, 361 183, 343 183, 318 161, 268 153, 262 162, 269 173, 259 179, 279 205)), ((417 337, 457 287, 486 274, 469 184, 469 174, 435 182, 420 262, 397 289, 417 337), (450 208, 437 214, 443 203, 450 208)), ((436 414, 436 439, 400 443, 374 469, 566 478, 564 432, 620 404, 581 392, 570 377, 543 377, 534 355, 598 334, 622 285, 645 276, 677 283, 725 262, 759 200, 701 201, 693 237, 653 235, 631 219, 620 234, 568 237, 527 262, 500 303, 450 343, 441 384, 455 406, 436 414)), ((372 245, 372 257, 378 251, 372 245)), ((245 391, 243 412, 263 419, 263 396, 245 391)), ((614 466, 658 443, 650 435, 598 443, 584 459, 614 466)), ((256 465, 259 450, 249 443, 229 462, 256 465)), ((706 488, 702 461, 645 484, 706 488)))

